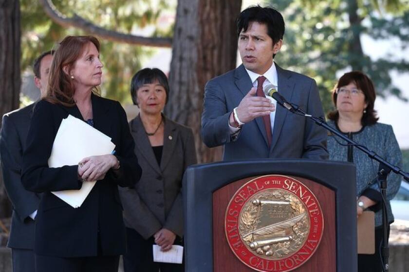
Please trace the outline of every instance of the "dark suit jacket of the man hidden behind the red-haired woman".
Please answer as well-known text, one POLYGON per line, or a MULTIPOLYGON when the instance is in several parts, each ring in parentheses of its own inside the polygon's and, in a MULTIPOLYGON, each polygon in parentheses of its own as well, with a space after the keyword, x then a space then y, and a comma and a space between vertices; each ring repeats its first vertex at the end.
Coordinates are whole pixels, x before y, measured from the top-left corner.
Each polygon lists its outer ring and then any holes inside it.
POLYGON ((34 248, 35 221, 29 215, 38 208, 40 195, 24 189, 21 183, 21 158, 26 148, 26 138, 33 113, 31 104, 3 116, 0 136, 0 157, 4 186, 11 203, 11 219, 8 247, 34 248))

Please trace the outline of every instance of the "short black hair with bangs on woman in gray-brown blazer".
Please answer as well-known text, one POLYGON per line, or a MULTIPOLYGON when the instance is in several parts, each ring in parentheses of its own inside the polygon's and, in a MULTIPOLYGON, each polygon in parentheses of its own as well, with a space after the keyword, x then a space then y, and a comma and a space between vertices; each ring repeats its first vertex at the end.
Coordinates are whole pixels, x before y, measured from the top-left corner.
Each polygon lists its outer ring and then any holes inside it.
POLYGON ((137 90, 145 84, 152 84, 155 81, 165 88, 166 92, 166 102, 169 100, 169 83, 167 82, 167 77, 161 69, 158 68, 144 68, 136 72, 130 81, 130 96, 134 105, 138 105, 136 102, 136 92, 137 90))

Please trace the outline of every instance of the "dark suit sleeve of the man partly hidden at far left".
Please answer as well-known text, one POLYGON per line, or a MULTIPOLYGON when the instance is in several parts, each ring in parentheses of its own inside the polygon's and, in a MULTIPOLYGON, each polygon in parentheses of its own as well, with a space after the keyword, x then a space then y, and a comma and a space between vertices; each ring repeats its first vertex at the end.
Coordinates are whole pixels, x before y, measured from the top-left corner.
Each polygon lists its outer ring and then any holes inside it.
POLYGON ((21 183, 22 143, 11 117, 4 115, 0 136, 0 157, 4 187, 21 221, 38 208, 39 197, 21 183))

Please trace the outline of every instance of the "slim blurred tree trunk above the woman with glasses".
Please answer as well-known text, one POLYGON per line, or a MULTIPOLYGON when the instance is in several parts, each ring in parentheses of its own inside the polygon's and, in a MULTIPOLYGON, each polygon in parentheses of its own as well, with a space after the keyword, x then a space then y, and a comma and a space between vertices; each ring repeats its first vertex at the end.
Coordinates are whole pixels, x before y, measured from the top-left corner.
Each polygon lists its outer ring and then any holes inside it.
POLYGON ((357 0, 348 0, 348 17, 350 21, 350 30, 352 37, 349 39, 349 49, 351 52, 350 65, 353 70, 362 71, 364 64, 364 52, 362 51, 361 32, 362 19, 358 16, 358 2, 357 0))

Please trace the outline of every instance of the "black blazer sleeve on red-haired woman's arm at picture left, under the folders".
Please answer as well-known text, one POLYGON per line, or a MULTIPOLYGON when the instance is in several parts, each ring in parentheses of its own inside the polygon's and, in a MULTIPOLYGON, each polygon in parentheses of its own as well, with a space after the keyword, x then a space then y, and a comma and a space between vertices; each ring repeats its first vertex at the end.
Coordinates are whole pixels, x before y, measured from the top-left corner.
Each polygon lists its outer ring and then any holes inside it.
POLYGON ((23 154, 21 181, 27 190, 34 192, 78 190, 78 166, 48 167, 59 128, 55 127, 56 105, 37 102, 27 136, 27 148, 23 154))

